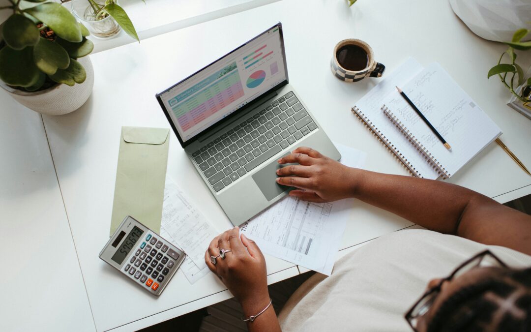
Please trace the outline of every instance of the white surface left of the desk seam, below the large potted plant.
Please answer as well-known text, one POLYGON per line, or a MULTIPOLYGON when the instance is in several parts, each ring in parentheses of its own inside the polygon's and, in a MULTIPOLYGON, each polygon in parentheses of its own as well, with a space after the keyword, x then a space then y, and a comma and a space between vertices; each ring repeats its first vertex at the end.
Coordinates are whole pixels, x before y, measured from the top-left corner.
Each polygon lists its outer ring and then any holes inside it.
POLYGON ((41 116, 0 100, 0 331, 94 331, 41 116))

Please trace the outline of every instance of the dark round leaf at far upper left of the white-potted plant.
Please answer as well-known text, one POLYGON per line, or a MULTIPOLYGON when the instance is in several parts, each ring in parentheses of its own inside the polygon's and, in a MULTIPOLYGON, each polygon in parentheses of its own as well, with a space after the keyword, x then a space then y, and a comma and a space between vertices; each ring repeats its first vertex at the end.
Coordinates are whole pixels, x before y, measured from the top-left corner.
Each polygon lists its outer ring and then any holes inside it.
POLYGON ((39 29, 35 23, 21 14, 13 14, 5 21, 2 35, 6 44, 13 49, 33 46, 40 39, 39 29))

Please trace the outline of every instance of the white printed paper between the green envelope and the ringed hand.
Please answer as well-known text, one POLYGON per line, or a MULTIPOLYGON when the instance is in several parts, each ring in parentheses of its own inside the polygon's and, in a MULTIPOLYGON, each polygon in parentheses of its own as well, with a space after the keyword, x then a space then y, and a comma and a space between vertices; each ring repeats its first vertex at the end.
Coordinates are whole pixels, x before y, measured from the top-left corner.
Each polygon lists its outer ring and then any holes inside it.
POLYGON ((218 232, 168 177, 162 203, 160 235, 186 253, 181 269, 190 283, 193 284, 210 271, 204 262, 204 252, 218 232))

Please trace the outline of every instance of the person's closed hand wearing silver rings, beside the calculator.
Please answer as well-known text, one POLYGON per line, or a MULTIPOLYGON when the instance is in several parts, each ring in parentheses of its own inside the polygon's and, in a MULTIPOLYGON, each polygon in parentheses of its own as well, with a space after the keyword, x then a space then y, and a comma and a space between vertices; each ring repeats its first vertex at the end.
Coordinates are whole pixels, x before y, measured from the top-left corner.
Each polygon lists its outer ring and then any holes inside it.
POLYGON ((269 303, 264 256, 254 241, 243 234, 239 236, 238 227, 216 236, 204 254, 204 261, 244 309, 254 312, 269 303), (218 256, 220 249, 231 251, 226 253, 225 259, 216 258, 213 264, 210 257, 218 256))

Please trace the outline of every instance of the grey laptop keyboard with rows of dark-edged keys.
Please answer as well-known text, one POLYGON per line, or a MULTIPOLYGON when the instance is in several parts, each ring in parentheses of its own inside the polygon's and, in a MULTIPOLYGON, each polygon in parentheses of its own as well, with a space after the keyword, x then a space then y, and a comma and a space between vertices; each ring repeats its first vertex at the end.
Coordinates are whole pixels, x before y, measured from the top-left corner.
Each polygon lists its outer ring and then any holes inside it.
POLYGON ((316 128, 294 93, 288 92, 254 116, 240 120, 192 157, 218 192, 316 128))

